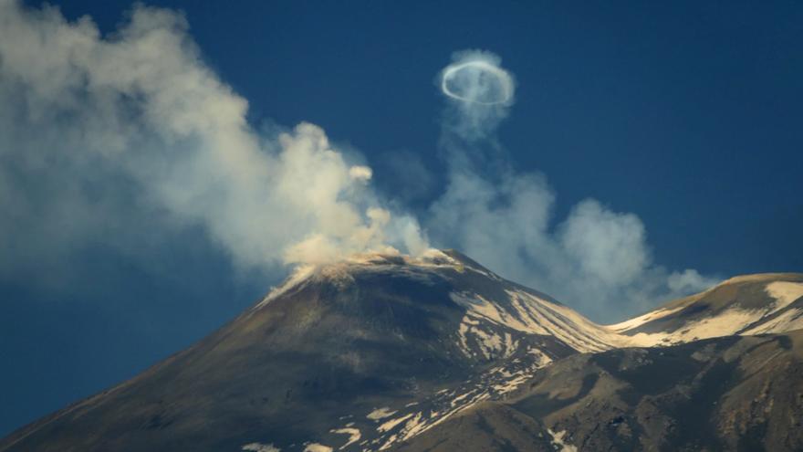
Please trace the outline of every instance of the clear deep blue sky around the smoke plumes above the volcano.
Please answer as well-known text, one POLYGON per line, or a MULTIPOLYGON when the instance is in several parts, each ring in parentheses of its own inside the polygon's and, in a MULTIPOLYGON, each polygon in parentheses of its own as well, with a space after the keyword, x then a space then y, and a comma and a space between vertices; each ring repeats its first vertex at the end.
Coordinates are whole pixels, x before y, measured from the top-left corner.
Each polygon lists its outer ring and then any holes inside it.
MULTIPOLYGON (((443 189, 443 100, 455 50, 494 51, 516 76, 499 131, 540 171, 558 217, 593 196, 641 217, 668 268, 803 271, 800 2, 159 2, 183 9, 207 63, 254 123, 311 121, 348 142, 392 192, 396 152, 443 189)), ((129 2, 60 5, 101 30, 129 2)), ((0 107, 2 108, 2 107, 0 107)), ((159 271, 98 247, 67 286, 0 282, 0 435, 132 376, 214 330, 274 280, 235 275, 187 231, 159 271)))

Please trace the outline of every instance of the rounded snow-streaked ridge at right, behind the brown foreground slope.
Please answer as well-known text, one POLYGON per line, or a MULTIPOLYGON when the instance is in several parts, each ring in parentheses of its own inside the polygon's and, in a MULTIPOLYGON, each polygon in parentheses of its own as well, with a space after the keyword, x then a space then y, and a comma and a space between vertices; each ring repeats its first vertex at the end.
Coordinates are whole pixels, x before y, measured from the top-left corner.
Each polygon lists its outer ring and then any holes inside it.
POLYGON ((803 274, 728 279, 712 289, 610 325, 641 346, 803 328, 803 274))

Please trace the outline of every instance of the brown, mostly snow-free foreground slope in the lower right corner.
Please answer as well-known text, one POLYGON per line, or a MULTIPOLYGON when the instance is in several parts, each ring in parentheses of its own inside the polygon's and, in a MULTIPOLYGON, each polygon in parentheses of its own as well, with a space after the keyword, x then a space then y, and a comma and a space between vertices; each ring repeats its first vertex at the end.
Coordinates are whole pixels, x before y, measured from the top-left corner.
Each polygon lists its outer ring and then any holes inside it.
POLYGON ((803 331, 576 354, 398 450, 803 450, 801 375, 803 331))

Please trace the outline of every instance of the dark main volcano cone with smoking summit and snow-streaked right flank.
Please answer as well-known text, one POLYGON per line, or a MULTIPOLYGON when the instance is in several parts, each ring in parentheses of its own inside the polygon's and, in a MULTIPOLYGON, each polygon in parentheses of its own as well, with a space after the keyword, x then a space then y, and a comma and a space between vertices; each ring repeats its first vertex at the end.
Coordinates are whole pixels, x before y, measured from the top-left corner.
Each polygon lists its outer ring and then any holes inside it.
POLYGON ((620 337, 456 252, 299 270, 190 349, 0 450, 383 449, 620 337))

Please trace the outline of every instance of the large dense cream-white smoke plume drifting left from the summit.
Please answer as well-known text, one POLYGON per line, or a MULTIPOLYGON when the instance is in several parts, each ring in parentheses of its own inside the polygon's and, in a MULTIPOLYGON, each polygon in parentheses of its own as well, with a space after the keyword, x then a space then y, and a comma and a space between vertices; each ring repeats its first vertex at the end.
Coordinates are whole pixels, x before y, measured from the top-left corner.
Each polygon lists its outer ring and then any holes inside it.
POLYGON ((240 268, 426 247, 318 126, 258 132, 181 14, 135 5, 104 37, 0 0, 0 105, 0 276, 186 227, 240 268))

